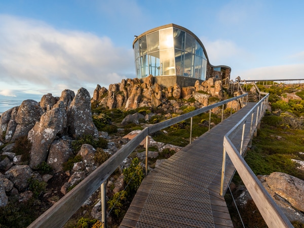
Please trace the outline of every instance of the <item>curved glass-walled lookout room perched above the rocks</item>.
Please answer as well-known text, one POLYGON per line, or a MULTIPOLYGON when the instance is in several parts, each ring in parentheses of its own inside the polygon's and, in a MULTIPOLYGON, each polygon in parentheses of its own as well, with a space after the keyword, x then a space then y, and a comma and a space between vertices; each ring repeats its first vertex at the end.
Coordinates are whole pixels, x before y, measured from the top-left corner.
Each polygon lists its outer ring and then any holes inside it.
POLYGON ((194 33, 179 25, 168 24, 135 36, 133 49, 137 78, 151 74, 206 80, 206 50, 194 33))

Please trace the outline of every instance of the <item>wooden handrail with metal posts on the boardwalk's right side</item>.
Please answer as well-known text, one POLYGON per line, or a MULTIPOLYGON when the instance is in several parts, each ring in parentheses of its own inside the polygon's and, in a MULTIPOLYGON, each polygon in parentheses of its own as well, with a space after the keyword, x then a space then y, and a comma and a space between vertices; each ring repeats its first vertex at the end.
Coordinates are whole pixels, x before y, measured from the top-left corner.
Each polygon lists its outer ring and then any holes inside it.
MULTIPOLYGON (((223 164, 222 164, 222 178, 221 178, 221 195, 223 195, 223 180, 225 174, 225 155, 230 157, 234 167, 238 171, 243 183, 245 184, 250 196, 252 197, 255 205, 257 206, 259 212, 261 213, 264 221, 269 227, 293 227, 290 221, 287 219, 285 214, 281 211, 278 205, 274 202, 269 193, 265 190, 261 182, 257 179, 253 171, 247 165, 242 157, 242 146, 240 151, 235 147, 235 145, 230 140, 237 131, 243 126, 243 135, 247 119, 251 119, 251 126, 253 120, 253 113, 256 111, 256 123, 260 122, 262 115, 265 112, 266 104, 268 102, 269 94, 263 97, 254 107, 239 121, 239 123, 233 127, 224 136, 223 140, 223 164), (260 108, 260 110, 259 110, 260 108)), ((250 131, 250 138, 252 137, 252 132, 250 131)))

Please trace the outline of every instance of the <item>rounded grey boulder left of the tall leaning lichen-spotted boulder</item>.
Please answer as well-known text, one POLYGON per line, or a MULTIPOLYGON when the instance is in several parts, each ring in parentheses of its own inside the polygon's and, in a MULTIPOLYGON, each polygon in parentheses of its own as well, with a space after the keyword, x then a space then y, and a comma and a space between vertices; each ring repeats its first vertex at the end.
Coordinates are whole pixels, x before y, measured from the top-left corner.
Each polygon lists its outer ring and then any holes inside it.
POLYGON ((37 101, 24 100, 18 108, 16 116, 17 127, 11 141, 15 141, 21 136, 27 136, 35 123, 40 121, 43 113, 44 110, 37 101))

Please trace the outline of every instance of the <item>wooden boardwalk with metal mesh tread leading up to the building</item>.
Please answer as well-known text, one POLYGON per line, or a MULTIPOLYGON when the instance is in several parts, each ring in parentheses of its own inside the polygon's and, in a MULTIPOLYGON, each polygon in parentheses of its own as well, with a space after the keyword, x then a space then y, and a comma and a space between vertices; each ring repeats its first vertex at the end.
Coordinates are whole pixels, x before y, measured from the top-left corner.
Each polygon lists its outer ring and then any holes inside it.
MULTIPOLYGON (((233 227, 225 200, 219 195, 223 136, 255 104, 248 103, 150 172, 120 227, 233 227)), ((245 131, 250 131, 250 126, 245 131)), ((238 149, 241 136, 242 132, 232 139, 238 149)), ((243 148, 249 140, 245 138, 243 148)), ((234 172, 227 156, 225 191, 234 172)))

